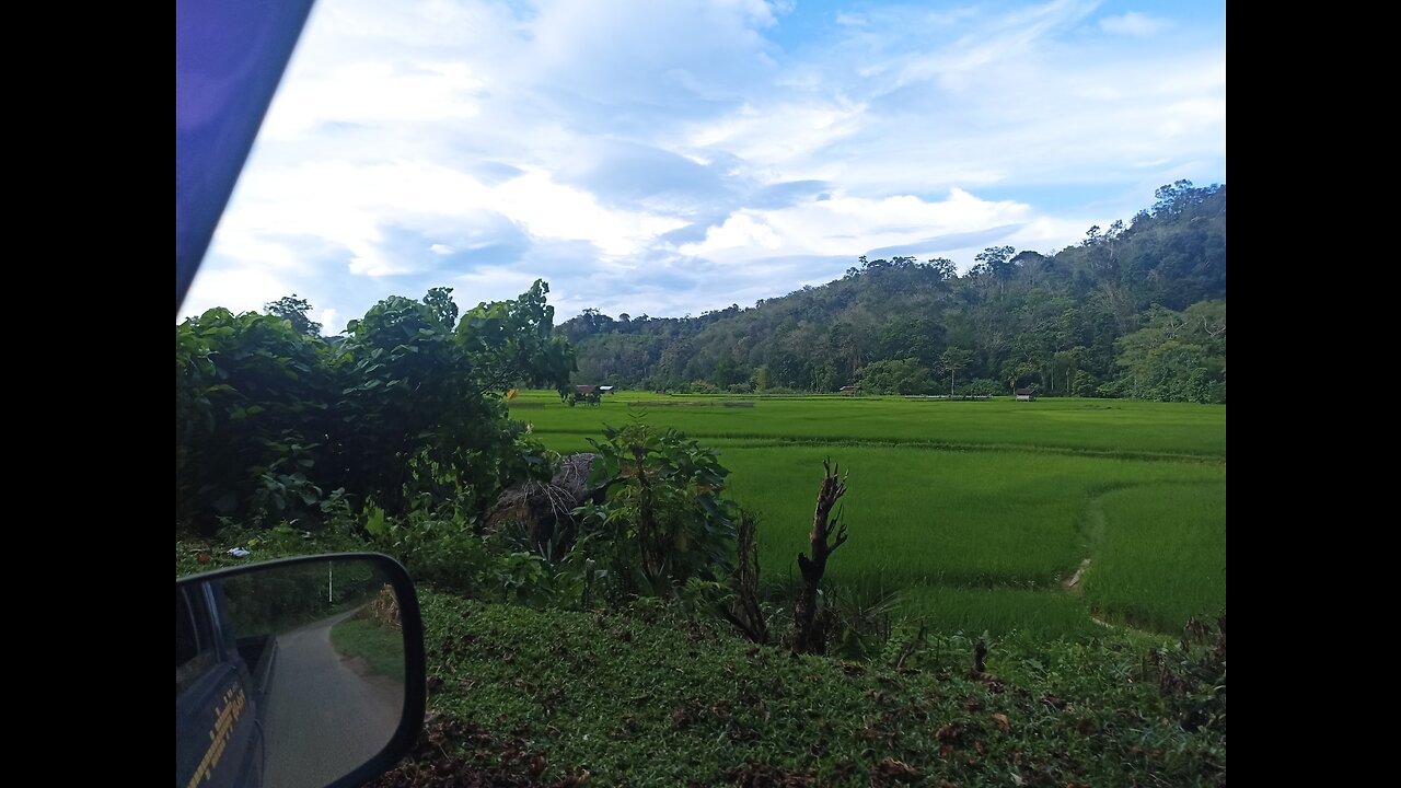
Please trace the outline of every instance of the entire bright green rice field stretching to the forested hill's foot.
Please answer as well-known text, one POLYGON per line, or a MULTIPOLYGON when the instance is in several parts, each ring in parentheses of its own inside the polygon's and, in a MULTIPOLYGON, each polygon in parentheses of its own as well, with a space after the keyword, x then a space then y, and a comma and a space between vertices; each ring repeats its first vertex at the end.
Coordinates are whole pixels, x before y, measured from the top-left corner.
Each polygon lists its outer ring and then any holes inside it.
POLYGON ((525 393, 511 409, 562 453, 630 419, 716 450, 759 516, 766 579, 797 571, 829 457, 849 474, 850 541, 828 578, 933 627, 1171 632, 1226 607, 1224 407, 621 391, 574 408, 525 393))

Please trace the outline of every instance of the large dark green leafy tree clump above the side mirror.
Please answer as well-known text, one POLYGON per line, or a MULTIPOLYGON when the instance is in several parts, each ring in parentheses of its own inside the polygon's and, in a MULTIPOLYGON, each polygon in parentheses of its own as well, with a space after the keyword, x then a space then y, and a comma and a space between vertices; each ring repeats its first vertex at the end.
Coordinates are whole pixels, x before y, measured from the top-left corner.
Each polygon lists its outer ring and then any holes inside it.
MULTIPOLYGON (((573 355, 544 282, 457 321, 451 289, 391 296, 328 344, 289 315, 216 308, 175 330, 177 531, 219 517, 315 530, 374 501, 394 516, 475 516, 514 480, 548 474, 507 418, 514 384, 563 391, 573 355), (303 327, 305 328, 305 327, 303 327)), ((298 311, 300 310, 300 311, 298 311)))

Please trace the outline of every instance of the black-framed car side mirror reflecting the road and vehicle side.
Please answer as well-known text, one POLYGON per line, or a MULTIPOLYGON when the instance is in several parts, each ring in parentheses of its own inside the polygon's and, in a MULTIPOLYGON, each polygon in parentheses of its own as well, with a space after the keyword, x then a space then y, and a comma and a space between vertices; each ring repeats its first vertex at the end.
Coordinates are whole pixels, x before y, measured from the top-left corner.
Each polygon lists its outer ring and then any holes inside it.
POLYGON ((175 785, 349 787, 423 726, 423 623, 387 555, 175 580, 175 785))

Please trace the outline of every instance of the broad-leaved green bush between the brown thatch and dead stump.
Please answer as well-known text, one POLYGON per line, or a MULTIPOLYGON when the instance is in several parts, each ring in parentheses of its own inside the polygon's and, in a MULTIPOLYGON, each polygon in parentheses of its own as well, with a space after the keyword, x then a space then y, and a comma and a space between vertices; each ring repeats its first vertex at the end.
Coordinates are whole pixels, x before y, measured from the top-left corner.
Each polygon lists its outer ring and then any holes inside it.
POLYGON ((588 487, 607 496, 577 512, 574 550, 608 569, 615 599, 671 596, 692 578, 724 578, 738 509, 722 496, 729 471, 715 451, 642 421, 605 426, 604 440, 588 443, 588 487))

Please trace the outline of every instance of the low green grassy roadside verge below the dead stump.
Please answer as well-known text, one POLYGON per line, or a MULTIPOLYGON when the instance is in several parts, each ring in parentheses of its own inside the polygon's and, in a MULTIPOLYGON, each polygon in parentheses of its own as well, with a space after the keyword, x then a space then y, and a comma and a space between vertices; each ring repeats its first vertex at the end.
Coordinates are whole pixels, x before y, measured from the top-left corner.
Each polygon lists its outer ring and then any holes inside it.
POLYGON ((448 735, 420 757, 464 780, 474 771, 511 785, 527 784, 510 781, 514 773, 574 785, 584 771, 591 785, 1226 780, 1223 716, 1184 728, 1184 707, 1142 673, 1143 644, 1124 634, 993 639, 989 684, 969 677, 972 642, 962 637, 929 637, 895 670, 908 638, 857 665, 793 658, 696 623, 422 599, 430 739, 448 735))

